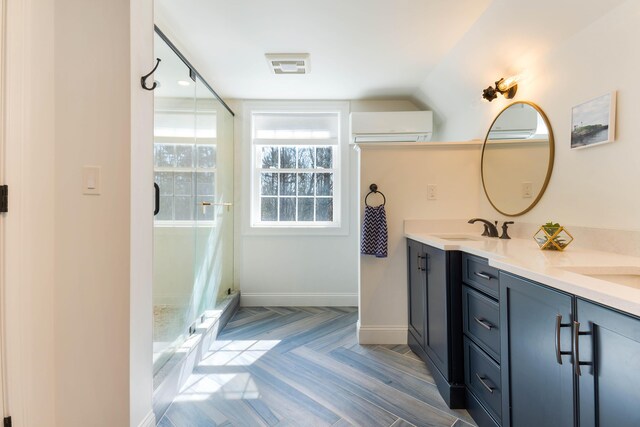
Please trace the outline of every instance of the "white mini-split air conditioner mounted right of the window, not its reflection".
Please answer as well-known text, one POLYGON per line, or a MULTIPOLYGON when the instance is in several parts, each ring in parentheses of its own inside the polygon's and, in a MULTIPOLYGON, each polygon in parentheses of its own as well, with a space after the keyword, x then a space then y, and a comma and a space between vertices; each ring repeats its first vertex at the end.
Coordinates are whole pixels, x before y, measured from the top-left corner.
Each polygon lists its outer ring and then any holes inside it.
POLYGON ((351 143, 429 142, 433 134, 431 111, 351 113, 351 143))

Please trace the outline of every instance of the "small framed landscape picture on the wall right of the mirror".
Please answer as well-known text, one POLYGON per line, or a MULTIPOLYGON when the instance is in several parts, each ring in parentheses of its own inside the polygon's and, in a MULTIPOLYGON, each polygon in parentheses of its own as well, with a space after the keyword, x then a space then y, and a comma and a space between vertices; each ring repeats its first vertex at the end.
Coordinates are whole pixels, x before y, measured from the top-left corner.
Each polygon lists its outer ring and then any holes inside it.
POLYGON ((571 148, 613 142, 615 125, 616 92, 576 105, 571 109, 571 148))

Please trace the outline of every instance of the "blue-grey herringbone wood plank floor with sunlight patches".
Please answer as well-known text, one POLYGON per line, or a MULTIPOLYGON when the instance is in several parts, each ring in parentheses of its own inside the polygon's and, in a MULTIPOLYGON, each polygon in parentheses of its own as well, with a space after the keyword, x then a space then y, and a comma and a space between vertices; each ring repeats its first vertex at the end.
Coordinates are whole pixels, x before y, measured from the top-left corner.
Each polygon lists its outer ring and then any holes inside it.
POLYGON ((346 307, 240 308, 161 427, 474 425, 406 345, 359 345, 346 307))

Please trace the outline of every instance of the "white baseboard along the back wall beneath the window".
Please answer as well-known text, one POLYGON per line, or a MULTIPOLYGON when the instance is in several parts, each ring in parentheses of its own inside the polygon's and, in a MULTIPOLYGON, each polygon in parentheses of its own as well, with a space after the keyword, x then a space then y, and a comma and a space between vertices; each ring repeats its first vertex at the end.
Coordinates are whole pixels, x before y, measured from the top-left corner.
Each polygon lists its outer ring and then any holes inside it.
POLYGON ((242 292, 240 305, 243 307, 357 307, 358 294, 322 293, 250 293, 242 292))

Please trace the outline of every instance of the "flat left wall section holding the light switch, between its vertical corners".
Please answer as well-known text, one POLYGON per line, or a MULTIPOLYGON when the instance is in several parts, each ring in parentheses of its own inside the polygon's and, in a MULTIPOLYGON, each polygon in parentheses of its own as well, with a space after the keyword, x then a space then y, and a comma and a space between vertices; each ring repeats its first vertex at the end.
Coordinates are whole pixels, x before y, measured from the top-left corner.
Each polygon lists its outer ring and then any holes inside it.
POLYGON ((130 423, 130 13, 55 2, 57 426, 130 423), (101 195, 82 194, 83 165, 102 167, 101 195))

